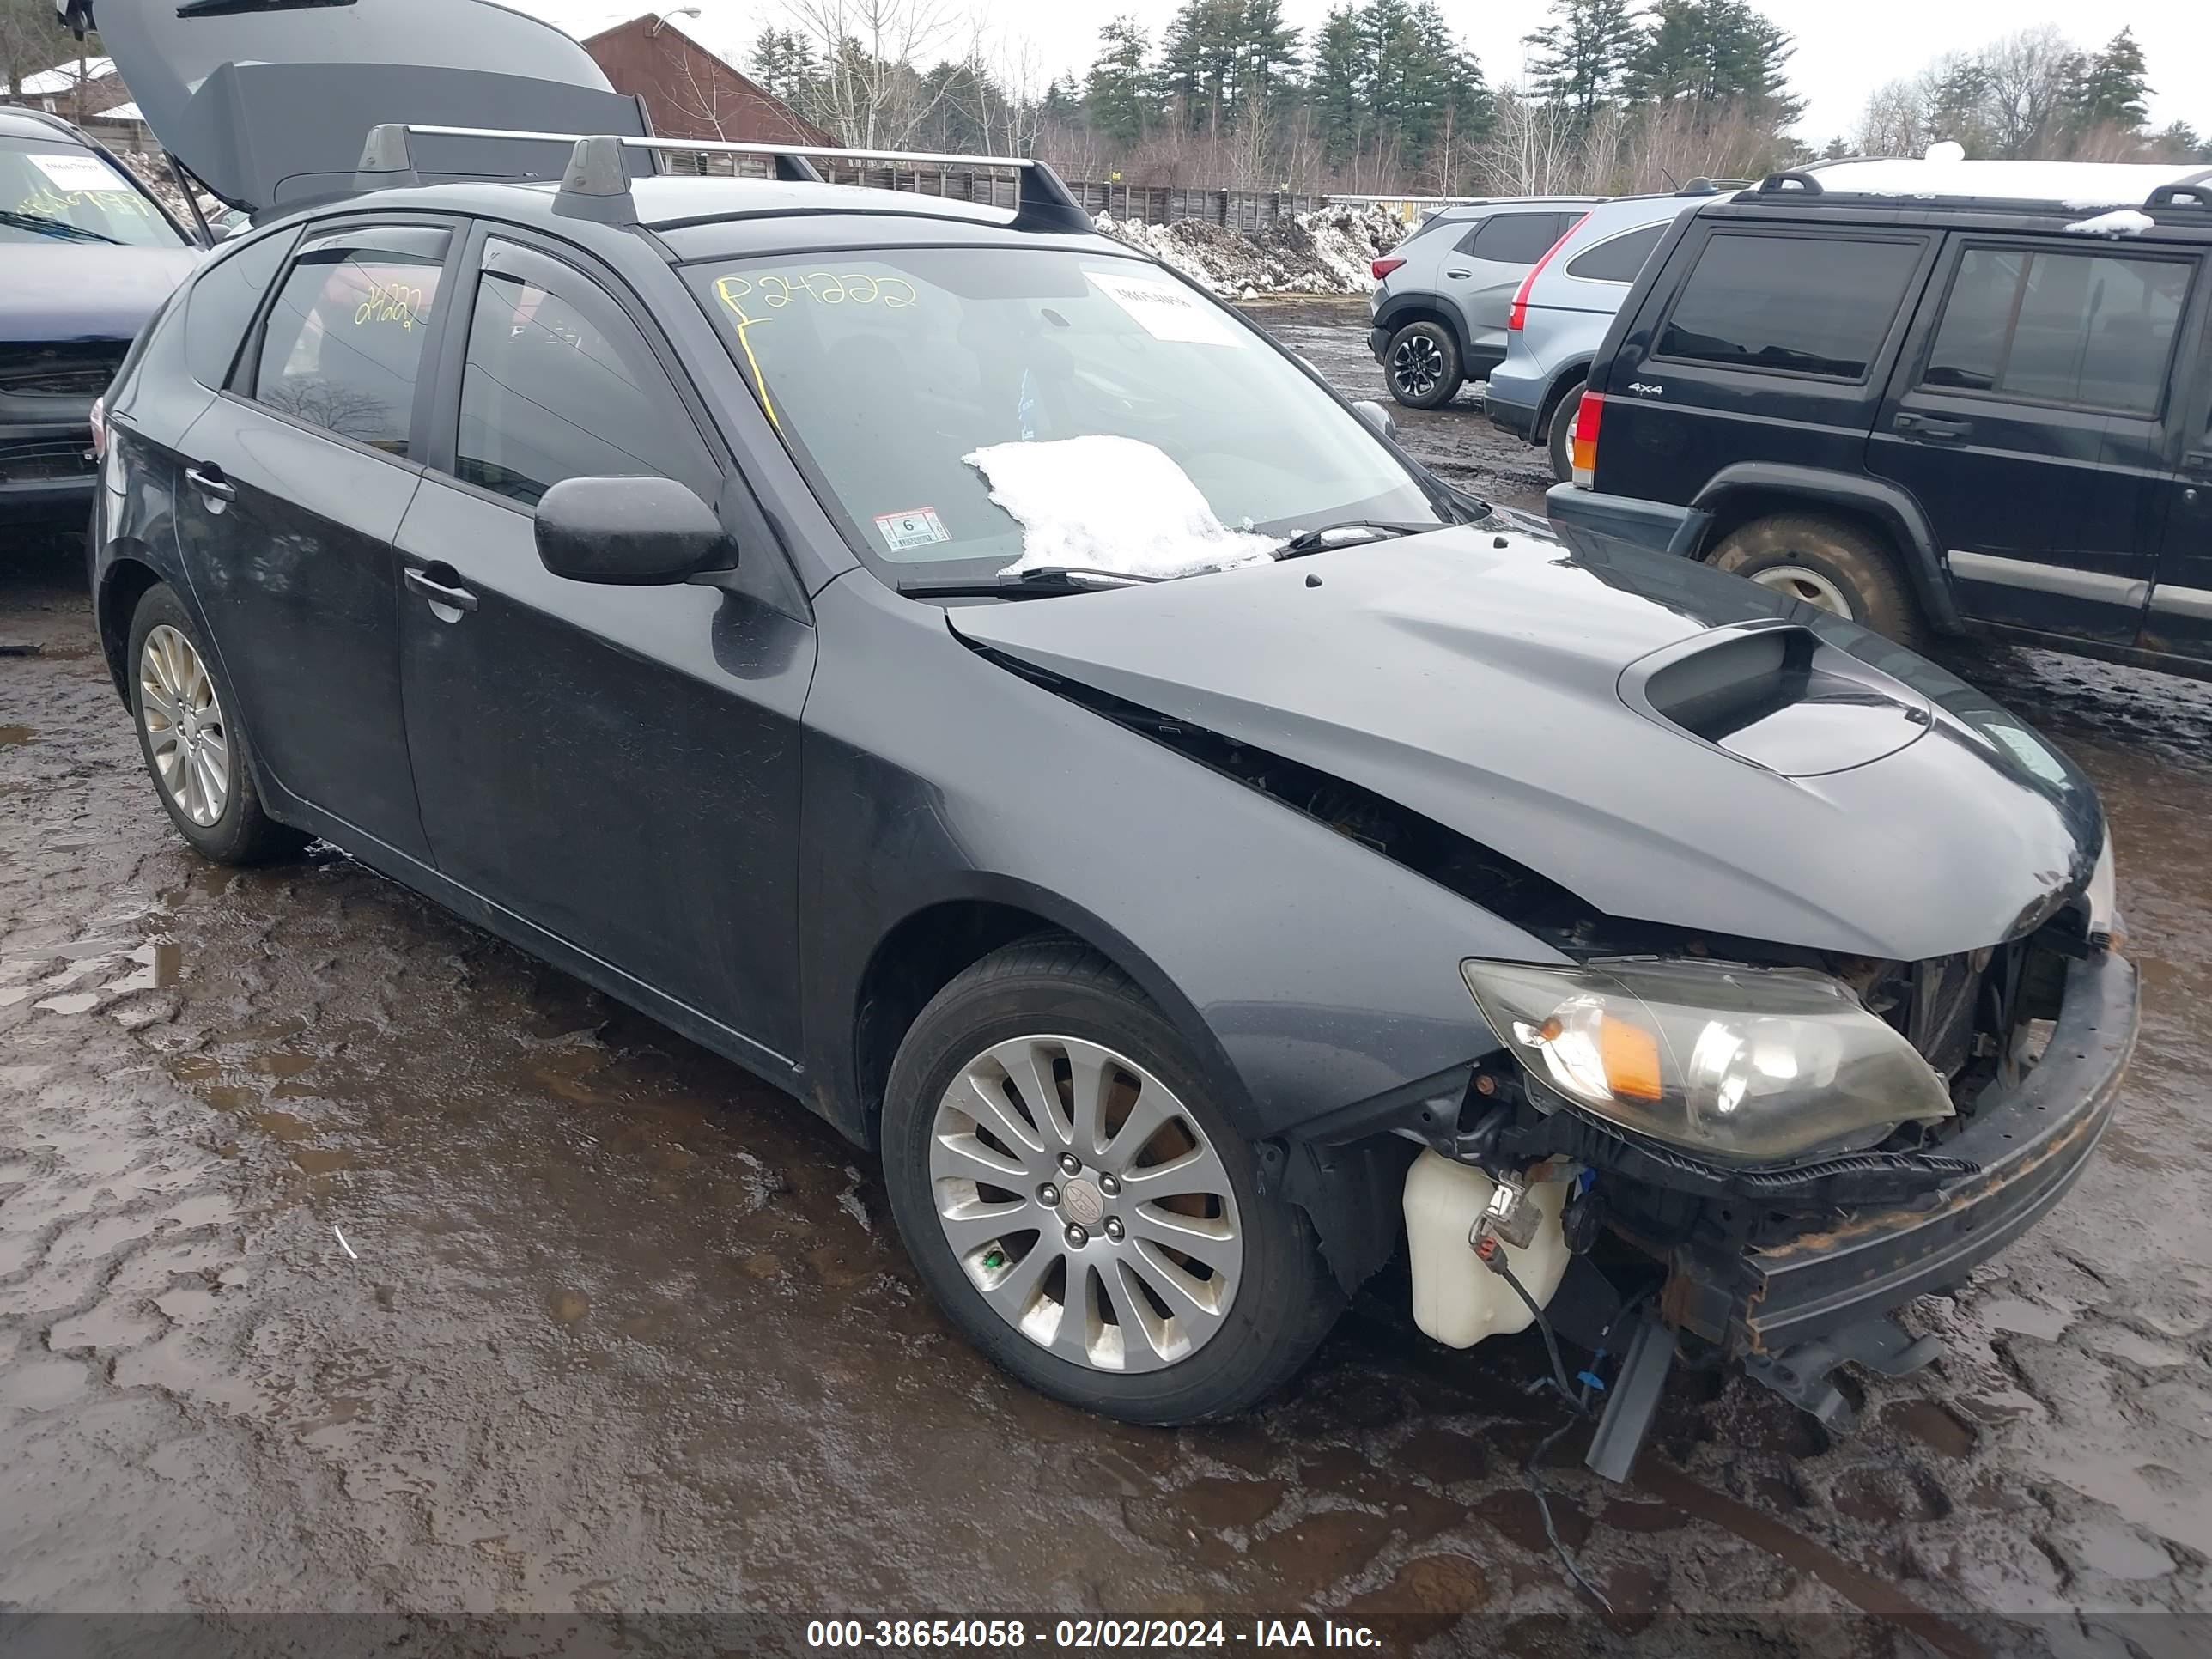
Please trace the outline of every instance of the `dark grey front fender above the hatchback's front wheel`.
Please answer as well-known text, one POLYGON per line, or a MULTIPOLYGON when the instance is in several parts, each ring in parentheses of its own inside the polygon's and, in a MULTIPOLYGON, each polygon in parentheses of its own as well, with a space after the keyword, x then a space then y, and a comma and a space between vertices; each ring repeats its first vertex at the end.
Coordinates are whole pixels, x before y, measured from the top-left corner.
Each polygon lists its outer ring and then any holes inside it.
MULTIPOLYGON (((960 644, 869 575, 818 595, 807 699, 807 1064, 856 1115, 876 945, 947 898, 1029 909, 1186 1033, 1248 1139, 1498 1048, 1460 962, 1562 958, 1256 790, 960 644)), ((1042 604, 1082 604, 1044 599, 1042 604)))

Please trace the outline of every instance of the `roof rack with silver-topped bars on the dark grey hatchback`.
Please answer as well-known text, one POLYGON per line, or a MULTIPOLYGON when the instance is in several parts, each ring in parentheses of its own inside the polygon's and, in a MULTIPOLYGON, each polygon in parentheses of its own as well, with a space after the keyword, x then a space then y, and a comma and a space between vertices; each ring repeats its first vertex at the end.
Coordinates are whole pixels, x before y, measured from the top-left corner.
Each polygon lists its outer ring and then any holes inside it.
POLYGON ((409 137, 515 139, 542 144, 549 139, 575 144, 568 170, 562 175, 553 210, 571 219, 593 219, 606 226, 635 226, 637 197, 630 192, 628 150, 672 155, 757 155, 765 157, 776 177, 787 184, 825 184, 814 161, 889 161, 891 166, 962 166, 1013 168, 1018 179, 1013 230, 1073 232, 1093 230, 1091 215, 1068 195, 1044 161, 1029 155, 938 155, 931 150, 843 150, 821 144, 741 144, 730 139, 668 139, 602 133, 507 133, 480 126, 418 126, 387 122, 369 131, 354 175, 356 190, 389 190, 420 184, 409 137))

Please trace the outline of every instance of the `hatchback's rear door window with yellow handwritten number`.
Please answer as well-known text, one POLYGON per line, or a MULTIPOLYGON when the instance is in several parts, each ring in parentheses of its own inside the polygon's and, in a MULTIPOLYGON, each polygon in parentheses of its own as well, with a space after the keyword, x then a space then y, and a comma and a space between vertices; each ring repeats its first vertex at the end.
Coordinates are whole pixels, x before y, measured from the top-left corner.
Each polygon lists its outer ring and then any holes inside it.
POLYGON ((301 248, 261 332, 254 400, 405 456, 447 239, 407 226, 301 248))

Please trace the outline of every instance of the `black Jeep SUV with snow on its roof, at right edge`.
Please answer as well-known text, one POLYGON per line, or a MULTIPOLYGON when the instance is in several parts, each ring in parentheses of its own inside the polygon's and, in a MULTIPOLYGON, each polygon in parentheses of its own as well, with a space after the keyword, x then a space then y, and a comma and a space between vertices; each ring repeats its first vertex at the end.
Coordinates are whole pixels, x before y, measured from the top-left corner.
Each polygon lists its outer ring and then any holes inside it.
POLYGON ((2201 166, 1774 175, 1644 268, 1551 513, 1907 644, 2212 675, 2208 252, 2201 166))

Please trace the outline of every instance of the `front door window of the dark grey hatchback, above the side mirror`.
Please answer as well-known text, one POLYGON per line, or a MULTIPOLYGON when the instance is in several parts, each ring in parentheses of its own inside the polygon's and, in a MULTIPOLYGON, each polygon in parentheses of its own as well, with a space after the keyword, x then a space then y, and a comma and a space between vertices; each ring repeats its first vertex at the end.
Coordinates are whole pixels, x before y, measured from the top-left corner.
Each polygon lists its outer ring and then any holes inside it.
POLYGON ((498 241, 476 285, 453 471, 531 507, 564 478, 677 478, 710 502, 721 487, 622 307, 582 272, 498 241))

